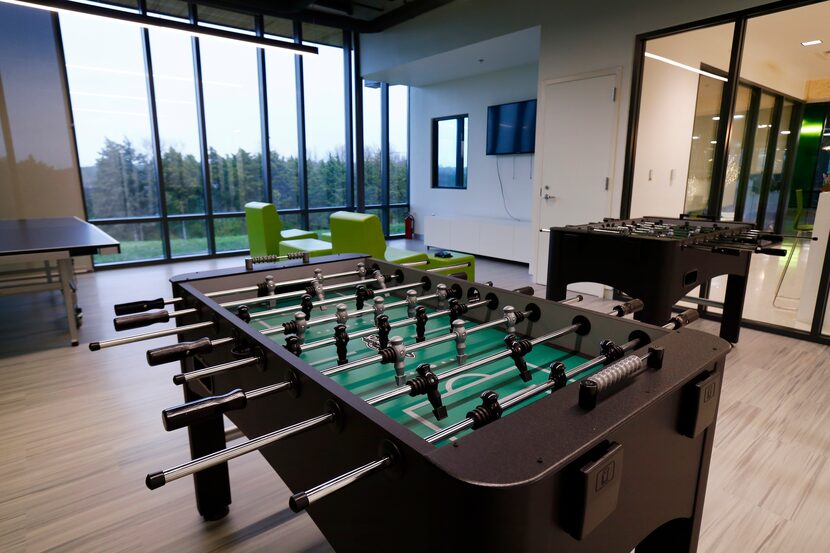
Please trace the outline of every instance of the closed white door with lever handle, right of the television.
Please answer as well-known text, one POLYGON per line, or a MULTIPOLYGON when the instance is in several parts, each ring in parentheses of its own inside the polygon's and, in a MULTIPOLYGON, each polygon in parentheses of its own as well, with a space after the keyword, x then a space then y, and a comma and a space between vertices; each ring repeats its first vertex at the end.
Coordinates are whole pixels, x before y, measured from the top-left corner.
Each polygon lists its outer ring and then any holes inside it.
MULTIPOLYGON (((544 88, 539 228, 584 224, 611 216, 611 184, 617 139, 615 73, 557 80, 544 88)), ((541 154, 539 156, 538 154, 541 154)), ((547 282, 550 235, 538 233, 538 284, 547 282)), ((601 295, 598 286, 577 287, 601 295)))

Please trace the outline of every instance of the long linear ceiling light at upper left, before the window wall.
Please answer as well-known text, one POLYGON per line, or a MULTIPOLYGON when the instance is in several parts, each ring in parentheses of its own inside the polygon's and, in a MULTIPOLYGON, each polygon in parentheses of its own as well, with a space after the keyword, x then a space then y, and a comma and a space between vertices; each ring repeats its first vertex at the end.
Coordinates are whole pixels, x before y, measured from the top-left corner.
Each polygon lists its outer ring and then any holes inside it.
POLYGON ((219 38, 224 40, 232 40, 235 42, 244 42, 252 44, 259 48, 276 48, 278 50, 285 50, 292 54, 316 54, 317 48, 314 46, 306 46, 304 44, 295 44, 293 42, 283 42, 280 40, 270 40, 257 36, 246 36, 233 31, 224 31, 222 29, 213 29, 208 27, 198 27, 192 23, 184 23, 181 21, 171 21, 170 19, 162 19, 157 17, 150 17, 135 12, 127 12, 103 6, 96 6, 93 4, 86 4, 81 2, 72 2, 69 0, 44 0, 42 2, 26 1, 26 0, 0 0, 4 4, 12 4, 15 6, 23 6, 25 8, 35 8, 38 10, 45 10, 55 13, 76 13, 81 15, 88 15, 92 17, 102 17, 105 19, 114 19, 122 23, 136 25, 147 29, 167 29, 171 31, 178 31, 194 37, 205 38, 219 38))

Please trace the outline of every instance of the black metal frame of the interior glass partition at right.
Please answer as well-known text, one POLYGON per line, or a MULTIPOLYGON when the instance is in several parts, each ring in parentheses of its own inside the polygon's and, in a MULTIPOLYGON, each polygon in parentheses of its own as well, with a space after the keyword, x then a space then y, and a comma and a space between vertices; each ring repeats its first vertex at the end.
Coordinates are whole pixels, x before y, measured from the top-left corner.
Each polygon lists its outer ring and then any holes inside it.
MULTIPOLYGON (((662 38, 677 33, 694 31, 716 25, 723 25, 732 23, 735 25, 732 36, 732 50, 729 63, 729 80, 724 85, 724 100, 721 103, 721 121, 723 125, 719 125, 717 145, 715 147, 714 167, 712 172, 712 185, 710 188, 710 201, 708 205, 707 215, 710 217, 717 217, 721 211, 721 199, 723 197, 723 183, 726 175, 726 162, 729 148, 729 138, 732 131, 732 117, 735 110, 735 96, 737 88, 740 84, 740 63, 743 54, 744 38, 746 35, 746 25, 750 18, 759 17, 762 15, 769 15, 789 9, 799 8, 802 6, 809 6, 818 4, 825 0, 780 0, 771 4, 747 8, 745 10, 727 13, 702 19, 699 21, 686 23, 682 25, 675 25, 665 29, 660 29, 648 33, 643 33, 635 37, 634 45, 634 62, 632 66, 632 81, 631 81, 631 99, 629 105, 629 119, 627 127, 627 139, 625 146, 625 169, 623 171, 623 189, 622 199, 620 203, 620 218, 627 219, 631 212, 631 198, 634 186, 634 162, 637 152, 637 125, 640 116, 640 102, 643 92, 643 68, 645 64, 645 45, 646 42, 656 38, 662 38)), ((798 140, 797 122, 800 121, 803 110, 803 104, 796 104, 791 120, 790 139, 787 143, 790 151, 795 151, 798 140)), ((792 160, 794 156, 788 156, 787 167, 785 168, 785 182, 789 182, 793 170, 792 160)), ((779 196, 779 209, 776 217, 776 229, 780 229, 783 222, 782 207, 786 205, 786 197, 789 190, 782 190, 779 196)), ((759 210, 760 211, 760 210, 759 210)), ((819 283, 818 295, 816 297, 815 314, 809 332, 796 330, 793 328, 783 327, 780 325, 773 325, 763 323, 760 321, 751 321, 741 319, 741 326, 780 334, 790 338, 798 338, 821 344, 830 345, 830 336, 821 333, 823 326, 824 314, 827 310, 828 295, 830 295, 830 251, 824 256, 824 263, 822 265, 822 280, 819 283)), ((702 294, 703 295, 703 294, 702 294)), ((702 316, 707 319, 719 320, 717 315, 702 311, 702 316)))

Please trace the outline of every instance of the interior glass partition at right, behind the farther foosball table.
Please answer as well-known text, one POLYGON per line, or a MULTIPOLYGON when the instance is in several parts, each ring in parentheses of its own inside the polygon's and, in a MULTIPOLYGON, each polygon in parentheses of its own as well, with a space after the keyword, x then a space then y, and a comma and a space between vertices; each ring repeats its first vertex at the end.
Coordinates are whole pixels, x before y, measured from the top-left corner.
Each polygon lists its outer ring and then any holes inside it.
MULTIPOLYGON (((760 231, 779 255, 751 255, 743 321, 814 340, 830 335, 830 68, 815 63, 826 45, 814 40, 828 18, 825 1, 643 41, 627 175, 631 216, 685 212, 760 231), (686 152, 681 211, 672 200, 686 152)), ((690 295, 722 302, 726 283, 690 295)))

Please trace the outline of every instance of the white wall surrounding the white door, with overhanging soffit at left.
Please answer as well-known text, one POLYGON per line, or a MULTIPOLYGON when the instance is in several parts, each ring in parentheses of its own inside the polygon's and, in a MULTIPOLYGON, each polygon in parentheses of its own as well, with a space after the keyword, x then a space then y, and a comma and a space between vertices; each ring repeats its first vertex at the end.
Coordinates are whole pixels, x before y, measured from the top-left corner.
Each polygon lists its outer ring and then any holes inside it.
MULTIPOLYGON (((366 73, 383 71, 439 52, 541 25, 539 90, 547 80, 622 67, 621 122, 616 137, 613 212, 619 212, 631 70, 638 34, 764 4, 758 0, 665 2, 538 2, 456 0, 376 35, 361 37, 366 73)), ((539 94, 537 93, 537 96, 539 94)), ((541 110, 543 106, 539 106, 541 110)), ((413 136, 414 145, 414 136, 413 136)), ((537 150, 540 146, 537 144, 537 150)), ((549 168, 550 170, 557 170, 549 168)), ((539 174, 534 182, 540 183, 539 174)), ((538 191, 536 192, 538 193, 538 191)), ((536 193, 530 190, 531 198, 536 193)))

